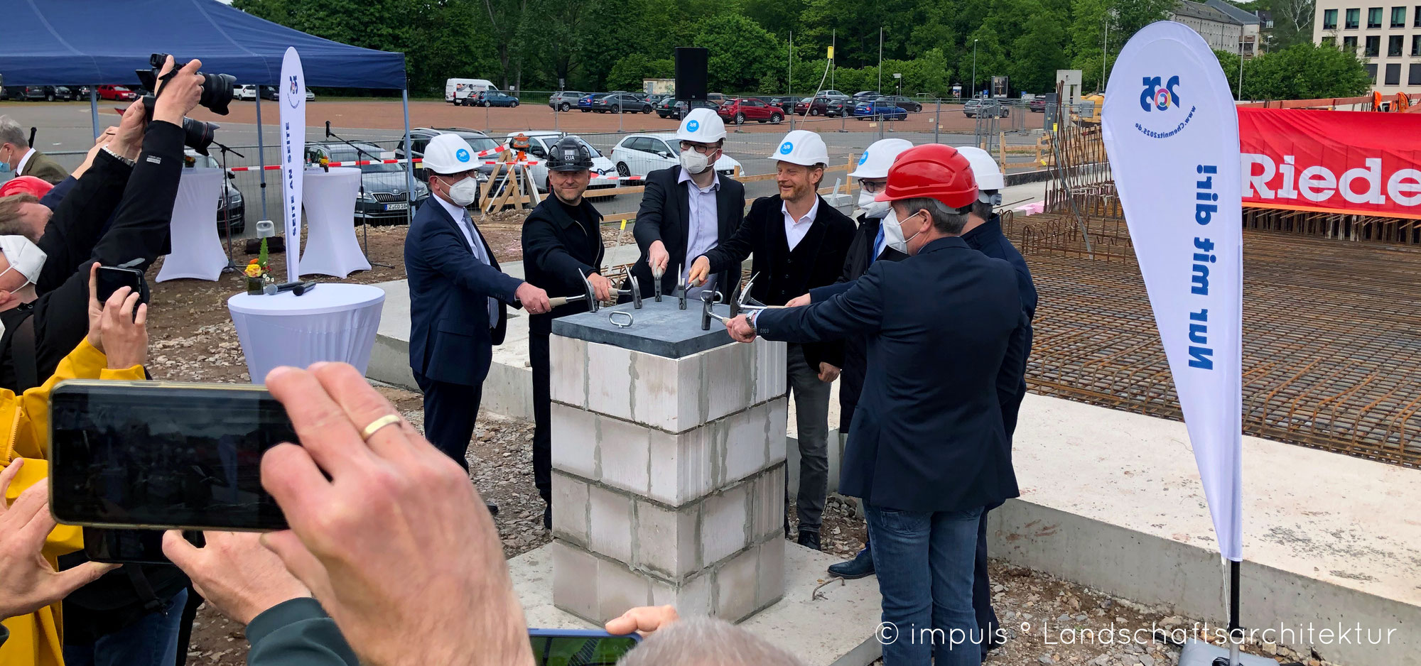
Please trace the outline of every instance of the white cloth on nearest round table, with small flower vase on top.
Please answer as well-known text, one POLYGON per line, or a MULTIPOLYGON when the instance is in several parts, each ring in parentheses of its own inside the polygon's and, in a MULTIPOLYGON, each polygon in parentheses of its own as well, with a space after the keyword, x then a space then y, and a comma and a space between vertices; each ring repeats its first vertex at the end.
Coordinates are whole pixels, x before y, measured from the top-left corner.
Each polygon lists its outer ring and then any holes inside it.
POLYGON ((279 365, 306 368, 317 361, 351 364, 365 373, 384 304, 379 287, 330 283, 303 295, 227 298, 252 383, 261 383, 279 365))

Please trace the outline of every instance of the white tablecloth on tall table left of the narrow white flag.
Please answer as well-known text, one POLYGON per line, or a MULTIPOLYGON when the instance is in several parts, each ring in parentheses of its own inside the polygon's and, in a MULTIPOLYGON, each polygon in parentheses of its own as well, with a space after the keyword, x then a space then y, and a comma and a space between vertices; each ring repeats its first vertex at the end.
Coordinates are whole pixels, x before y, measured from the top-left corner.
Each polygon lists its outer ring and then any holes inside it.
POLYGON ((183 169, 178 200, 168 223, 172 254, 163 258, 158 281, 193 277, 217 280, 227 267, 227 250, 217 237, 217 199, 222 197, 222 169, 183 169))

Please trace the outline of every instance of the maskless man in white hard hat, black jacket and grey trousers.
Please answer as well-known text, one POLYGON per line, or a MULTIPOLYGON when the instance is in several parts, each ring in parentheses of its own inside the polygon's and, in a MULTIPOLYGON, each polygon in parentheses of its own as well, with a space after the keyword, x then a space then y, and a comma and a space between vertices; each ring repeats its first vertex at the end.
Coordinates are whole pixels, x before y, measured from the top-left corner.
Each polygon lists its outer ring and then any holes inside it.
MULTIPOLYGON (((796 129, 784 135, 774 156, 779 196, 756 199, 730 240, 696 257, 691 284, 702 284, 712 273, 739 270, 752 253, 752 271, 759 278, 750 295, 767 305, 783 305, 838 280, 854 239, 854 220, 818 196, 828 162, 824 139, 796 129)), ((732 288, 733 283, 720 291, 729 294, 732 288)), ((799 426, 799 542, 818 550, 828 488, 828 389, 844 364, 844 346, 841 341, 791 344, 786 356, 799 426)))

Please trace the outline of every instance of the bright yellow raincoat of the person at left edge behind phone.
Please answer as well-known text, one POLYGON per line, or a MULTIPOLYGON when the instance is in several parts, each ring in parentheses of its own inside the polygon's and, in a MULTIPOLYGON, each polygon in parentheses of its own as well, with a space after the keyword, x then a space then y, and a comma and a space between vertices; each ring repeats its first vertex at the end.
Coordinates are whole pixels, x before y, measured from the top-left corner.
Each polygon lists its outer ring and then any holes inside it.
MULTIPOLYGON (((43 386, 14 395, 0 389, 0 427, 7 427, 0 439, 0 466, 10 464, 17 457, 24 459, 20 476, 4 493, 6 506, 18 497, 20 491, 48 476, 50 456, 50 391, 64 379, 146 379, 144 368, 135 365, 122 371, 107 369, 108 356, 85 338, 60 361, 43 386)), ((51 565, 55 558, 84 548, 81 530, 58 525, 44 544, 44 557, 51 565)), ((60 605, 41 608, 30 615, 4 621, 10 639, 0 645, 3 666, 63 666, 64 640, 60 605)))

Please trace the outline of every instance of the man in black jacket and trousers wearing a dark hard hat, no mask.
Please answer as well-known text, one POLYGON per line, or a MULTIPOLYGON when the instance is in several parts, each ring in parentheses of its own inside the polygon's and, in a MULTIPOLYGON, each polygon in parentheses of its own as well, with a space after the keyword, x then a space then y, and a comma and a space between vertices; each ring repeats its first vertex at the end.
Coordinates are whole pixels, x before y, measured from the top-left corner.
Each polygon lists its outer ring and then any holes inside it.
MULTIPOLYGON (((601 213, 583 197, 591 178, 593 155, 577 136, 564 136, 547 158, 553 196, 523 222, 523 274, 553 297, 584 294, 583 275, 594 295, 607 301, 611 283, 603 277, 601 213)), ((585 312, 585 300, 529 317, 529 362, 533 365, 533 483, 543 496, 543 527, 553 528, 551 359, 553 320, 585 312)))

